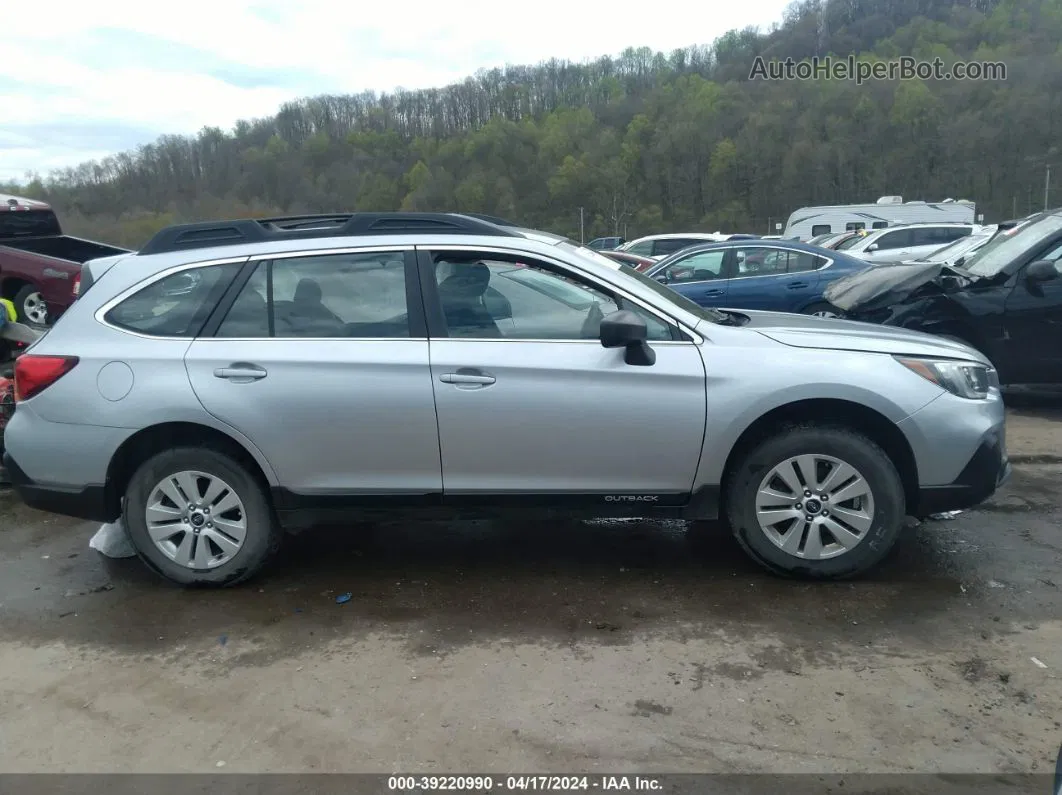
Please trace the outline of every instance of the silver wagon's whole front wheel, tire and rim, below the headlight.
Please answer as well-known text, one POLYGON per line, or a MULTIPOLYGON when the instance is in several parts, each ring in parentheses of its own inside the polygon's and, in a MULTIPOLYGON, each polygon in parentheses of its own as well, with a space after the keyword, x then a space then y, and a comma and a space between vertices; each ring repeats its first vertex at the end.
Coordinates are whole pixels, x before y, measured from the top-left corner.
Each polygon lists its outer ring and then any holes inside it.
POLYGON ((861 574, 904 525, 900 474, 872 440, 823 426, 786 429, 749 452, 726 486, 738 543, 770 571, 813 580, 861 574))

